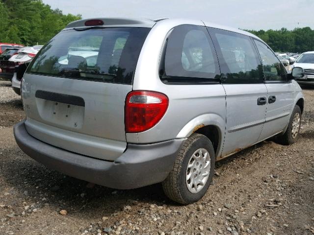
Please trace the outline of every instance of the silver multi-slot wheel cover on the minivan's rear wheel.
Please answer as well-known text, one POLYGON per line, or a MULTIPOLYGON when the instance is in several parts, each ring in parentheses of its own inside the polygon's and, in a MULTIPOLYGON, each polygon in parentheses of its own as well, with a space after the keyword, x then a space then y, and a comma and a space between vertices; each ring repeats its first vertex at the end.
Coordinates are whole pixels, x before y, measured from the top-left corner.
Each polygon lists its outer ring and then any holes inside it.
POLYGON ((185 175, 187 189, 192 193, 201 191, 209 178, 210 155, 205 148, 197 149, 190 158, 185 175))

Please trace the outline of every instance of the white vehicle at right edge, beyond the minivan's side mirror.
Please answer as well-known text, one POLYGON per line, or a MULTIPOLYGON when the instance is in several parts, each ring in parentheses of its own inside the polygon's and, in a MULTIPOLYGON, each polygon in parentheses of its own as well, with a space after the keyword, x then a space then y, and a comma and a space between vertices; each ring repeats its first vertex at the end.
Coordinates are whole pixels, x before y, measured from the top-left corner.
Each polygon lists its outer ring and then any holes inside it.
POLYGON ((304 70, 304 76, 296 79, 299 84, 314 85, 314 51, 304 52, 293 64, 304 70))

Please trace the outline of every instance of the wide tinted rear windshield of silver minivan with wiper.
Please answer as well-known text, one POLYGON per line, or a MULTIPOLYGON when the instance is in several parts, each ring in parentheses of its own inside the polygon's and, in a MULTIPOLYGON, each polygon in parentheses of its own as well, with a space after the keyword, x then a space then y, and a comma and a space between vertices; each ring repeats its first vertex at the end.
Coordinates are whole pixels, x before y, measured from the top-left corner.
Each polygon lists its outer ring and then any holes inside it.
POLYGON ((85 28, 61 31, 28 67, 28 73, 131 84, 150 28, 85 28))

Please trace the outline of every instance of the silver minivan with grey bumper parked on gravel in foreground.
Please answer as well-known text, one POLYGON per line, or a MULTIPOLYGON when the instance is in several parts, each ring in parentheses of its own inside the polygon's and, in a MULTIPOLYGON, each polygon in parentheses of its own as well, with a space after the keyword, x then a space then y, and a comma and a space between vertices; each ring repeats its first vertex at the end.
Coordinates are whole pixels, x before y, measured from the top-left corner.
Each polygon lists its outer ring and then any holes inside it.
POLYGON ((304 97, 258 37, 203 21, 91 19, 46 44, 22 81, 15 139, 31 158, 110 188, 206 193, 215 162, 296 141, 304 97))

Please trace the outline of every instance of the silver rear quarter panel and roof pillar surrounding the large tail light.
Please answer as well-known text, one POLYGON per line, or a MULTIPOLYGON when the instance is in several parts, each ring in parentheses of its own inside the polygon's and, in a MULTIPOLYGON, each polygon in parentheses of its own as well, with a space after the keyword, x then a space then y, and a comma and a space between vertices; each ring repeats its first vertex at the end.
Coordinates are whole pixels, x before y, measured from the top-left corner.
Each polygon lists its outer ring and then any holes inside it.
POLYGON ((165 38, 173 27, 181 24, 204 26, 201 21, 163 20, 154 25, 146 38, 134 74, 133 90, 157 91, 166 94, 169 98, 169 107, 165 116, 150 130, 127 133, 128 142, 151 143, 186 138, 190 130, 186 129, 181 132, 183 127, 194 118, 209 114, 212 116, 208 117, 214 118, 213 122, 220 123, 220 128, 224 133, 222 123, 225 123, 226 100, 221 84, 166 85, 159 78, 159 61, 165 38))

